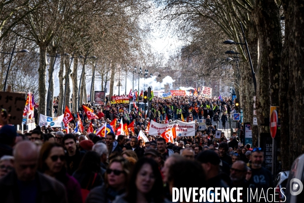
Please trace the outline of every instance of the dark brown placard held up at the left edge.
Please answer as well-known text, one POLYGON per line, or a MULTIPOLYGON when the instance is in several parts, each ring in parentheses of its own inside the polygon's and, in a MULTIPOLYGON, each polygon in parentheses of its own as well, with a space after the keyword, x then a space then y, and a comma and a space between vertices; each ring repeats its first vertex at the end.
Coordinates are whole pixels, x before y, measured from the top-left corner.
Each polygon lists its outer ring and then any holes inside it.
POLYGON ((0 92, 0 108, 5 109, 7 114, 11 114, 10 124, 22 124, 25 101, 25 92, 0 92))

